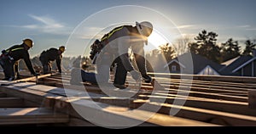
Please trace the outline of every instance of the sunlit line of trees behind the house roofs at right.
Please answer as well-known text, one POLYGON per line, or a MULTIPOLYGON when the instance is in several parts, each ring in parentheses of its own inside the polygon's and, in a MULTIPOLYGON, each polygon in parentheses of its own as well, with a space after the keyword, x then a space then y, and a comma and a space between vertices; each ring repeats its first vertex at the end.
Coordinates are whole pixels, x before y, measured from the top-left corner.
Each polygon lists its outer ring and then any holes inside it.
MULTIPOLYGON (((195 36, 195 41, 189 41, 189 37, 177 39, 174 44, 163 44, 159 50, 153 50, 151 53, 162 54, 167 61, 175 58, 186 52, 200 54, 201 56, 210 59, 216 63, 223 63, 227 60, 234 59, 241 55, 253 55, 253 50, 256 49, 256 40, 245 41, 244 49, 241 49, 238 41, 229 38, 226 42, 217 44, 218 34, 206 30, 201 31, 198 36, 195 36)), ((150 56, 149 56, 150 57, 150 56)))

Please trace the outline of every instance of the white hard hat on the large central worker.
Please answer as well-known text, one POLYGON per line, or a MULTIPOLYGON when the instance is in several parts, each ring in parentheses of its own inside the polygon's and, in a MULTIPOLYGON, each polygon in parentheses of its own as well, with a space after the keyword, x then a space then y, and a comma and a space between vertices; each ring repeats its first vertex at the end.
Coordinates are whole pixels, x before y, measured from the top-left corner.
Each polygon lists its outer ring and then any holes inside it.
POLYGON ((143 36, 149 36, 153 31, 153 25, 148 21, 136 22, 137 31, 143 36))

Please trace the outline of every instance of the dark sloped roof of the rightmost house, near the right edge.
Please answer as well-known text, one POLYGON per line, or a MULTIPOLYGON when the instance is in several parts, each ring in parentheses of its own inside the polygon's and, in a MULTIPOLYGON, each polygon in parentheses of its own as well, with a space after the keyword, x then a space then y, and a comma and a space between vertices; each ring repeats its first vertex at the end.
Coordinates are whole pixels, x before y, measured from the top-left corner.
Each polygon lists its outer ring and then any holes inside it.
MULTIPOLYGON (((240 56, 238 58, 233 59, 233 62, 219 70, 223 75, 230 75, 232 74, 233 70, 239 68, 242 64, 246 63, 248 60, 253 59, 253 56, 240 56)), ((232 60, 232 59, 230 59, 232 60)))

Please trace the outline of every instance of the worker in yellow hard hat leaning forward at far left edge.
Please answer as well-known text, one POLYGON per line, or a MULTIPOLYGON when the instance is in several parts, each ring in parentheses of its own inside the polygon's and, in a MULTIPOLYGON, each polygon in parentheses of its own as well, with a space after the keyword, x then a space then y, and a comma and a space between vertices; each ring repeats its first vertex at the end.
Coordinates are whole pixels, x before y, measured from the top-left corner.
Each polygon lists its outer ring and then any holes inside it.
POLYGON ((18 65, 20 59, 24 59, 28 70, 32 75, 38 75, 32 67, 28 50, 33 46, 31 39, 24 39, 22 44, 9 47, 2 51, 0 56, 0 64, 3 68, 5 81, 14 81, 19 79, 18 65))

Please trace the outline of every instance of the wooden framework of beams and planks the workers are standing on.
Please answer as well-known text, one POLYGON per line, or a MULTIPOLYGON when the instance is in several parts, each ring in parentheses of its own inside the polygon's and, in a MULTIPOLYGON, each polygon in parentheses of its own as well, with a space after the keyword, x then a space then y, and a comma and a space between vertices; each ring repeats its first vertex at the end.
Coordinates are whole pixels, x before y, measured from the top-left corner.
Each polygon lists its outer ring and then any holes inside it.
MULTIPOLYGON (((8 98, 10 103, 0 100, 0 105, 15 108, 22 99, 44 109, 51 108, 69 116, 67 126, 96 126, 79 114, 76 106, 93 114, 113 115, 116 120, 142 121, 138 126, 256 126, 253 77, 154 74, 160 87, 142 83, 137 90, 132 88, 135 83, 128 77, 126 85, 131 90, 122 91, 90 83, 70 85, 70 78, 69 74, 48 75, 38 81, 3 86, 0 97, 12 98, 8 98), (145 120, 143 117, 147 115, 145 120)), ((61 115, 58 118, 61 120, 61 115)))

